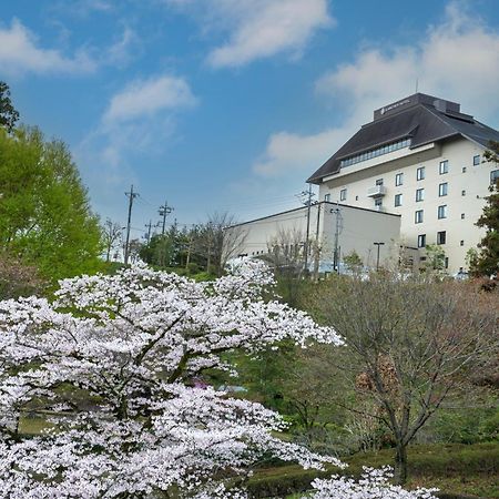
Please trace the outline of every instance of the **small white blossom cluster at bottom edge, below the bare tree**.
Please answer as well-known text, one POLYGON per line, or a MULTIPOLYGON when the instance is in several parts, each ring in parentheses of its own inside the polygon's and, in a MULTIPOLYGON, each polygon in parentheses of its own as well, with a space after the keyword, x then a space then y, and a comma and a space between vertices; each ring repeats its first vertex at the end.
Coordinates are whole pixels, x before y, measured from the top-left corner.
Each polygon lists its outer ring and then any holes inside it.
POLYGON ((303 499, 436 499, 432 492, 438 489, 405 490, 391 485, 391 469, 364 467, 360 480, 333 476, 330 479, 316 479, 312 482, 315 491, 303 499))

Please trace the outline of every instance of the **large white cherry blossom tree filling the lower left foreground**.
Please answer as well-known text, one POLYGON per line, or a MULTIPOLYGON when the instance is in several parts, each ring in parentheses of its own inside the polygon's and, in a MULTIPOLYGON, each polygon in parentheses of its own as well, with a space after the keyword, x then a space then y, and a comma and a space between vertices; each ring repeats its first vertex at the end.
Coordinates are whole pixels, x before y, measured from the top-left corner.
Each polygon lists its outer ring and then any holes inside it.
POLYGON ((0 497, 240 498, 262 457, 343 466, 279 439, 275 413, 195 383, 234 349, 342 344, 264 301, 272 284, 251 262, 214 283, 139 265, 63 281, 53 303, 0 302, 0 497), (23 435, 29 416, 53 429, 23 435))

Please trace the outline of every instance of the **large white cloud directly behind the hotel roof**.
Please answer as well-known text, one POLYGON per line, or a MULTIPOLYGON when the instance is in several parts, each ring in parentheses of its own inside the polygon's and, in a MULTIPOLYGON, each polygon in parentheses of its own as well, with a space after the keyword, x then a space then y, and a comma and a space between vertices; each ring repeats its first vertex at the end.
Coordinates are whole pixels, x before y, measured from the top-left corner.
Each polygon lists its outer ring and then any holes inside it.
POLYGON ((375 109, 414 93, 416 79, 420 92, 460 102, 464 112, 497 125, 499 31, 466 7, 450 2, 444 21, 429 27, 415 45, 365 49, 354 62, 320 78, 317 92, 335 103, 336 114, 345 116, 343 124, 310 135, 273 134, 253 171, 264 176, 301 174, 304 180, 370 121, 375 109))

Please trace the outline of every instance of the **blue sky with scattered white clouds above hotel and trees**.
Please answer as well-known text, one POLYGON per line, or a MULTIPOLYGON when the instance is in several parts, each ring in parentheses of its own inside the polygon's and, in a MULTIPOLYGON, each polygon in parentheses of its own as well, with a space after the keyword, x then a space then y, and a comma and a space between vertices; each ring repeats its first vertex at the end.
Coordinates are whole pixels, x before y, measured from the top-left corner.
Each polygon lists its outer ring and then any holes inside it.
POLYGON ((0 80, 64 141, 102 221, 301 205, 373 111, 418 90, 499 128, 498 0, 0 0, 0 80))

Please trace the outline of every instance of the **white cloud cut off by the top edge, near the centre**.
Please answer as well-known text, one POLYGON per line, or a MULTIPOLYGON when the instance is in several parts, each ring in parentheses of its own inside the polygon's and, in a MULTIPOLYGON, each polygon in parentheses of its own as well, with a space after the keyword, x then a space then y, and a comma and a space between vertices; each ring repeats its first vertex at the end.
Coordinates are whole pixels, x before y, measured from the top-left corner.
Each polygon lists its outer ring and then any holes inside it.
POLYGON ((213 68, 242 67, 278 53, 299 55, 313 34, 334 24, 327 0, 166 0, 227 41, 207 55, 213 68))

